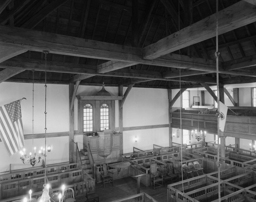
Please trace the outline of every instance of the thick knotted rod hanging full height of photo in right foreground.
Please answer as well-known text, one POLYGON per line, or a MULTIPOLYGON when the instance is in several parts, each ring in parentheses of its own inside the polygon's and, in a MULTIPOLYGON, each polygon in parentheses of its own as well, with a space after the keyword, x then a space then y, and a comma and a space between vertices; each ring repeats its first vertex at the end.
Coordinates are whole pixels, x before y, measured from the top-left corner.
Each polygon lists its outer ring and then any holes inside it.
POLYGON ((219 101, 219 47, 218 47, 218 0, 216 0, 216 80, 217 80, 217 103, 218 103, 218 117, 217 117, 217 132, 218 132, 218 151, 217 151, 217 168, 218 168, 218 195, 220 202, 220 144, 219 144, 219 118, 220 118, 220 101, 219 101))

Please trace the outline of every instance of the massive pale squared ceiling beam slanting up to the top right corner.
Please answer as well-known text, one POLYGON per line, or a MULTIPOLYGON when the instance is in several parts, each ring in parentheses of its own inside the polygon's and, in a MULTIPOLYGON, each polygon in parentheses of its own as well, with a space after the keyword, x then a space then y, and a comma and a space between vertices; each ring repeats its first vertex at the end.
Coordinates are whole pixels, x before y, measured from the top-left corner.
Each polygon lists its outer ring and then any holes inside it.
MULTIPOLYGON (((218 13, 218 34, 255 22, 255 9, 251 4, 240 1, 218 13)), ((156 43, 143 48, 144 59, 155 59, 189 45, 210 39, 216 35, 216 14, 177 31, 156 43)))

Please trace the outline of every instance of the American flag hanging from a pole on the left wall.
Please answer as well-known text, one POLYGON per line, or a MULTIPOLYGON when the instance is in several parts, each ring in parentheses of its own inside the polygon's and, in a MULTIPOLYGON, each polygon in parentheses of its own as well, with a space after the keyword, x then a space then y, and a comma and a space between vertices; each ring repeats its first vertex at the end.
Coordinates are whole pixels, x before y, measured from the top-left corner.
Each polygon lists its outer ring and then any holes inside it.
POLYGON ((0 138, 9 155, 24 146, 20 100, 0 106, 0 138))

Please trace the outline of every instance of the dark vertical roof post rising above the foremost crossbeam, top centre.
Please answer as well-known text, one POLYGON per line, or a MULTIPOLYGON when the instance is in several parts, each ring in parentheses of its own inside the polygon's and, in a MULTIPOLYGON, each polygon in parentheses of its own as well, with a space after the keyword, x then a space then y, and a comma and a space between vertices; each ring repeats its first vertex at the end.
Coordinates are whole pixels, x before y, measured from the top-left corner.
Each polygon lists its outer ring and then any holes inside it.
POLYGON ((132 46, 138 46, 138 0, 132 0, 132 46))

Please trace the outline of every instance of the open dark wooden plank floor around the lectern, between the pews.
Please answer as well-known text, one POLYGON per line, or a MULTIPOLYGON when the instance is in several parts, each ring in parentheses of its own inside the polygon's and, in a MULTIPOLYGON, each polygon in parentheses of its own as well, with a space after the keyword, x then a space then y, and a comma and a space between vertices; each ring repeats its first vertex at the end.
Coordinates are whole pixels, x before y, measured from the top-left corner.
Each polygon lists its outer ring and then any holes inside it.
MULTIPOLYGON (((125 177, 122 179, 114 180, 114 186, 112 184, 105 184, 105 188, 101 183, 96 184, 96 194, 99 195, 100 202, 109 202, 125 198, 134 194, 137 194, 137 181, 132 177, 125 177)), ((152 196, 159 202, 167 201, 167 186, 153 189, 153 186, 146 187, 141 184, 141 193, 145 192, 152 196)))

